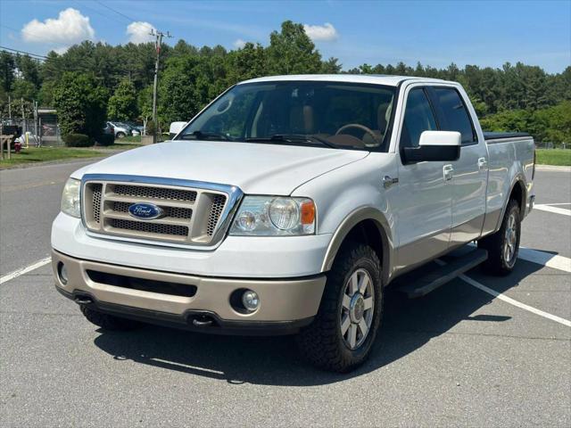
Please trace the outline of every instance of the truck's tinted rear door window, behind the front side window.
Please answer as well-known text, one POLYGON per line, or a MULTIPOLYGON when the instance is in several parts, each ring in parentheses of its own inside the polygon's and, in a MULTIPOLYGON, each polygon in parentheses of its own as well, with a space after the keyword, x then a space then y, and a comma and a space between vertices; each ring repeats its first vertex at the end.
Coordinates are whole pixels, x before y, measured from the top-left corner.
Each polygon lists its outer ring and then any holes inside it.
POLYGON ((474 128, 468 116, 466 105, 456 89, 435 87, 434 94, 443 111, 443 131, 458 131, 462 135, 462 144, 476 141, 474 128))

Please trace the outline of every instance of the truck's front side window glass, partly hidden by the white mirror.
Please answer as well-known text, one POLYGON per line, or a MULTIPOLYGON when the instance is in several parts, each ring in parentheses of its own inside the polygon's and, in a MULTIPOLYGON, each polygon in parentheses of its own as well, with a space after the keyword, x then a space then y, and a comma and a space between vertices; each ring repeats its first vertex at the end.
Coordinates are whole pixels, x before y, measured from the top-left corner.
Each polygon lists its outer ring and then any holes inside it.
POLYGON ((418 87, 412 89, 407 98, 407 107, 404 111, 404 123, 401 132, 402 147, 418 147, 420 134, 423 131, 435 131, 436 119, 428 103, 425 91, 418 87))

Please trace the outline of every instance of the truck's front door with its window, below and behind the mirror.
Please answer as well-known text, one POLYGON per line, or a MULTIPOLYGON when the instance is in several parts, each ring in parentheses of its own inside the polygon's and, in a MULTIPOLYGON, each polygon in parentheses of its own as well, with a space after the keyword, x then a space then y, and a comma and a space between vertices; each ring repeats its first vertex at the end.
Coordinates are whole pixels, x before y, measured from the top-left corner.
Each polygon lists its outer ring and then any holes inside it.
MULTIPOLYGON (((405 93, 399 152, 418 146, 423 131, 438 129, 425 86, 412 86, 405 93)), ((401 156, 401 160, 402 160, 401 156)), ((448 250, 451 228, 451 181, 444 177, 449 162, 400 161, 397 192, 387 192, 395 213, 398 236, 398 268, 413 268, 448 250)))

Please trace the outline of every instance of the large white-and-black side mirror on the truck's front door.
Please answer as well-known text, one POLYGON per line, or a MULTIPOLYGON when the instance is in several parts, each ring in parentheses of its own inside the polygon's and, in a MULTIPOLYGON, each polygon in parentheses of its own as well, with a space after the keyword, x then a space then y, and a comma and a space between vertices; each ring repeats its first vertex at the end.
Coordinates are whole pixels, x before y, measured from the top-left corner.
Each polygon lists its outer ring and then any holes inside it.
POLYGON ((418 147, 403 149, 404 163, 458 161, 462 136, 457 131, 424 131, 418 147))

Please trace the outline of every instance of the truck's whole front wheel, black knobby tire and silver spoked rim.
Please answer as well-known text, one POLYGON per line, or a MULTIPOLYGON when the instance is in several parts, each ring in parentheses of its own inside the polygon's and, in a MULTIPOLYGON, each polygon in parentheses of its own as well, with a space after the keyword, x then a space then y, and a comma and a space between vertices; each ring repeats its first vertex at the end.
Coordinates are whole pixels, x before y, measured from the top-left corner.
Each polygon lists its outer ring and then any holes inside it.
POLYGON ((383 308, 381 264, 367 245, 346 245, 339 252, 313 323, 297 342, 319 368, 346 373, 360 366, 377 337, 383 308))

